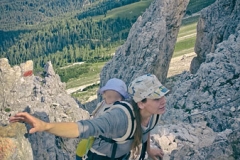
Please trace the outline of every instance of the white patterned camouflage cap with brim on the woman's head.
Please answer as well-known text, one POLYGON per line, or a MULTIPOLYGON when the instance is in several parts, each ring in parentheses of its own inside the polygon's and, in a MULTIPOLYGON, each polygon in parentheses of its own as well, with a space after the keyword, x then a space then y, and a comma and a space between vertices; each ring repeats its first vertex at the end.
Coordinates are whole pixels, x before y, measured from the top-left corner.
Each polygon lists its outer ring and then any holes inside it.
POLYGON ((157 77, 153 74, 146 74, 134 79, 128 86, 128 92, 137 103, 145 98, 161 98, 169 92, 157 77))

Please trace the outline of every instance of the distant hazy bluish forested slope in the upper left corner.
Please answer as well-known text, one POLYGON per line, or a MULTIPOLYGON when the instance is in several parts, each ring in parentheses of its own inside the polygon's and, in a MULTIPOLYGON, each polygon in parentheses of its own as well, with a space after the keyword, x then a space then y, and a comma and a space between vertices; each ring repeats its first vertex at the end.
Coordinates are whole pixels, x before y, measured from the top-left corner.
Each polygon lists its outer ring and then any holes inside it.
POLYGON ((1 0, 0 30, 31 27, 82 10, 92 2, 94 0, 1 0))

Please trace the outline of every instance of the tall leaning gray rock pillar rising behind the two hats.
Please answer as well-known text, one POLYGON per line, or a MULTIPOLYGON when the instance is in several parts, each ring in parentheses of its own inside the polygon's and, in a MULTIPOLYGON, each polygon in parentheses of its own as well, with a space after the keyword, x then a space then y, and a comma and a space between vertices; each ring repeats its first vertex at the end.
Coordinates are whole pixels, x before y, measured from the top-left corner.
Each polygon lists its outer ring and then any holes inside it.
POLYGON ((189 0, 155 0, 133 24, 127 41, 103 68, 102 86, 112 77, 127 84, 137 76, 154 73, 164 82, 189 0))

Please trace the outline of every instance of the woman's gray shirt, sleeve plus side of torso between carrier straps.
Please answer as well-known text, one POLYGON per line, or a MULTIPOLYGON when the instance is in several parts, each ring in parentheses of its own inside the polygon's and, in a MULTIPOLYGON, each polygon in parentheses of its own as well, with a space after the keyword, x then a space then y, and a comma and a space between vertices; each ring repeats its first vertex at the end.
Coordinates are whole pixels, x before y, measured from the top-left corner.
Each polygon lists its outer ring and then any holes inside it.
MULTIPOLYGON (((78 128, 80 138, 88 138, 89 136, 96 137, 91 149, 111 157, 113 144, 97 137, 102 135, 111 139, 121 138, 126 134, 128 129, 128 117, 121 108, 112 108, 110 111, 106 111, 97 118, 79 121, 78 128)), ((123 144, 118 144, 115 157, 120 157, 129 153, 131 144, 132 140, 128 140, 123 144)))

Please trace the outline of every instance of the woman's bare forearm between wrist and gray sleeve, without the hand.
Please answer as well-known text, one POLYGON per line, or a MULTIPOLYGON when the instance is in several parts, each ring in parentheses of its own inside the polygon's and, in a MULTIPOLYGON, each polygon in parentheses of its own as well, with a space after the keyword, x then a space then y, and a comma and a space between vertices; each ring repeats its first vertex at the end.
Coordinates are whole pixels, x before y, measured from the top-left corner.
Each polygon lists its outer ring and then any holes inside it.
POLYGON ((46 123, 46 132, 67 138, 75 138, 79 136, 77 123, 46 123))

